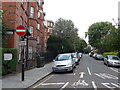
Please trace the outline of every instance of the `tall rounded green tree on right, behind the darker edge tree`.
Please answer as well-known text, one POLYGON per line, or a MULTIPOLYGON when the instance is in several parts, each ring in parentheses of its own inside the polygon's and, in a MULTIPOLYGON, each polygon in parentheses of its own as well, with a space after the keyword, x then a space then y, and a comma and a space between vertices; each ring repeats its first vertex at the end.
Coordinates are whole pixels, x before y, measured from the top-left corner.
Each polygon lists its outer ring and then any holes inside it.
POLYGON ((109 31, 112 31, 114 29, 115 27, 110 22, 97 22, 92 24, 87 32, 89 44, 93 47, 96 47, 100 51, 104 51, 105 43, 103 43, 103 39, 109 31))

